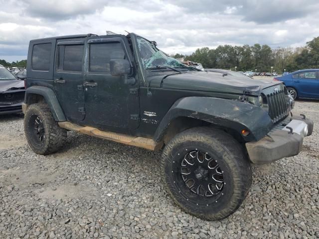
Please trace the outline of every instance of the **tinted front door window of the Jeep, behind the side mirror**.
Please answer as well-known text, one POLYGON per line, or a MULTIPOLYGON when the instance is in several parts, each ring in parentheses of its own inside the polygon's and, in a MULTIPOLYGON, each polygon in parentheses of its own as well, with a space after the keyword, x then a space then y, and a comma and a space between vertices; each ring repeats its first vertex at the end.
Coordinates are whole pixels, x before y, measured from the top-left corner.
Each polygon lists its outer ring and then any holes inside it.
POLYGON ((120 42, 90 44, 90 72, 110 73, 111 59, 125 59, 120 42))

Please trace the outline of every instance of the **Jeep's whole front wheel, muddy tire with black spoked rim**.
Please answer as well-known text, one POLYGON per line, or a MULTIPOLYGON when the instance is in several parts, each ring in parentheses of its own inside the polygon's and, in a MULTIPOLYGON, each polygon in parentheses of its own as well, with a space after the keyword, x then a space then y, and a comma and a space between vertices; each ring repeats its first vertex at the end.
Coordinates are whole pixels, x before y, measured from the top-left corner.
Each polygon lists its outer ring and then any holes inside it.
POLYGON ((177 134, 165 146, 160 167, 164 187, 175 203, 205 220, 234 213, 252 182, 250 163, 238 142, 209 127, 177 134))

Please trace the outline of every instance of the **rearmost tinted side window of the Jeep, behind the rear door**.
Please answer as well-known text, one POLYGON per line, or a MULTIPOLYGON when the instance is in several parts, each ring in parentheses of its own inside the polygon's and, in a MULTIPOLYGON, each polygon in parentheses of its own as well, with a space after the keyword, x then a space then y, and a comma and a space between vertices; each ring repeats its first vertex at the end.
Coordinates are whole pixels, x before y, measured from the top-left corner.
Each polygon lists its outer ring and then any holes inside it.
POLYGON ((32 70, 48 71, 50 69, 51 43, 36 44, 32 49, 32 70))

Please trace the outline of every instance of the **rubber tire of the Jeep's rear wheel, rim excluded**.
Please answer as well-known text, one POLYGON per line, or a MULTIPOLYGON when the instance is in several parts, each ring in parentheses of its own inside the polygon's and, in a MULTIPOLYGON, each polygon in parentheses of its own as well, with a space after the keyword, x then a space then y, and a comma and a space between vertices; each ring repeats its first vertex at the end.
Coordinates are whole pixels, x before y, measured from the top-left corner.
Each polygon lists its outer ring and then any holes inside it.
POLYGON ((24 133, 31 149, 41 155, 56 152, 65 142, 67 132, 64 128, 59 127, 53 119, 48 105, 36 103, 30 105, 24 115, 24 133), (39 142, 34 136, 34 123, 32 120, 35 116, 41 119, 44 127, 44 139, 39 142))

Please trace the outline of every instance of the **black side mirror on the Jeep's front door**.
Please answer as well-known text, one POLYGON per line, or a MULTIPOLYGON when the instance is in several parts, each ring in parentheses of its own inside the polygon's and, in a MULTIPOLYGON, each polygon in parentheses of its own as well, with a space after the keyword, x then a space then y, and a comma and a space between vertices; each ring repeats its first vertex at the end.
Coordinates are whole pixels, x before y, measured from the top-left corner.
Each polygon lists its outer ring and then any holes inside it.
POLYGON ((131 73, 131 65, 126 59, 111 59, 110 71, 112 76, 123 76, 124 84, 134 85, 136 83, 134 77, 128 77, 128 74, 131 73))

